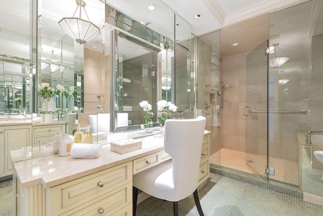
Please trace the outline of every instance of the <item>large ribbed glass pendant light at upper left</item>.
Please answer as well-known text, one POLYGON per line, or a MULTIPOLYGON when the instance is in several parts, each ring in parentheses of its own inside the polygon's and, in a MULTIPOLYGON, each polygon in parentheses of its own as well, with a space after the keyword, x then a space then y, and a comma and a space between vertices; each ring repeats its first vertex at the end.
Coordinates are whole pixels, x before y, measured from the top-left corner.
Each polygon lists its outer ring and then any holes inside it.
POLYGON ((68 35, 76 40, 76 42, 78 42, 79 44, 85 44, 87 41, 100 35, 100 29, 90 22, 84 8, 86 6, 85 2, 81 0, 76 0, 75 2, 77 4, 77 7, 73 14, 73 17, 65 17, 61 19, 59 21, 59 24, 68 35), (82 19, 82 8, 88 21, 82 19), (79 17, 74 17, 78 9, 79 17))

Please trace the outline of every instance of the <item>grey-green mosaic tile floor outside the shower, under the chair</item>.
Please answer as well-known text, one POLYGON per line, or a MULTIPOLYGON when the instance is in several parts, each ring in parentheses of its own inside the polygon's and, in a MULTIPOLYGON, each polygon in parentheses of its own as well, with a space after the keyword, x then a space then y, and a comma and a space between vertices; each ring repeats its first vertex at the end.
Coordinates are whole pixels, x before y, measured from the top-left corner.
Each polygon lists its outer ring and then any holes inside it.
MULTIPOLYGON (((210 174, 210 181, 199 191, 203 212, 211 215, 323 215, 323 206, 292 198, 239 181, 210 174)), ((138 216, 172 215, 173 204, 149 197, 137 206, 138 216), (157 206, 157 208, 156 208, 157 206)), ((179 201, 180 215, 198 215, 194 199, 179 201)))

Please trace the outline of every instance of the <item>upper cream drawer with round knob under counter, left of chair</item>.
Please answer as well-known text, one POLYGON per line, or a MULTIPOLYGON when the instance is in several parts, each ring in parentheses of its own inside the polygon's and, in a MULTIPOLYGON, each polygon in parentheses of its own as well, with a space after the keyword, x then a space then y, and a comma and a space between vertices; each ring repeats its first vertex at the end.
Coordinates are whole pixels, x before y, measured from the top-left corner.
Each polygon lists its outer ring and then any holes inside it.
MULTIPOLYGON (((48 210, 49 215, 62 214, 78 206, 89 204, 93 199, 131 182, 132 162, 130 161, 46 189, 46 193, 49 196, 48 200, 55 200, 55 202, 46 203, 46 209, 48 210)), ((127 194, 132 193, 132 189, 130 191, 131 192, 127 189, 127 194)), ((119 196, 123 197, 124 195, 119 194, 117 197, 119 196)))

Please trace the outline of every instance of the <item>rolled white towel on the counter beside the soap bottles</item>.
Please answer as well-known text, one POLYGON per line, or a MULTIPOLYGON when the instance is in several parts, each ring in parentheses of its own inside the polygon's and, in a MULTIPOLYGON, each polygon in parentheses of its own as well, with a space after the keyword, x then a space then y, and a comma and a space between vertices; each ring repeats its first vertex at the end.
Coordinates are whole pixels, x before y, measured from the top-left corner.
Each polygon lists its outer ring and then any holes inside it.
POLYGON ((100 144, 74 143, 71 148, 71 156, 74 158, 96 158, 100 154, 100 144))

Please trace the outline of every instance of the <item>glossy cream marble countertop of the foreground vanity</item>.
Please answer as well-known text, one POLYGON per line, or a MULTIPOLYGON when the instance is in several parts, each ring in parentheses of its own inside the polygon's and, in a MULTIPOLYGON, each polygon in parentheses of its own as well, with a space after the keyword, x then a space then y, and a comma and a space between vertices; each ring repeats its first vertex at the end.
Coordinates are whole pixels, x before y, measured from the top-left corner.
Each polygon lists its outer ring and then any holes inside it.
MULTIPOLYGON (((204 134, 209 133, 205 131, 204 134)), ((14 172, 20 188, 23 189, 37 184, 42 184, 44 188, 50 188, 164 150, 164 135, 161 135, 159 131, 147 134, 144 130, 140 130, 116 133, 107 137, 108 139, 104 141, 107 144, 102 145, 101 155, 98 158, 60 157, 59 154, 55 154, 14 162, 14 172), (142 149, 125 154, 110 150, 112 141, 130 138, 142 141, 142 149)), ((15 151, 11 151, 11 155, 14 158, 15 151)))

